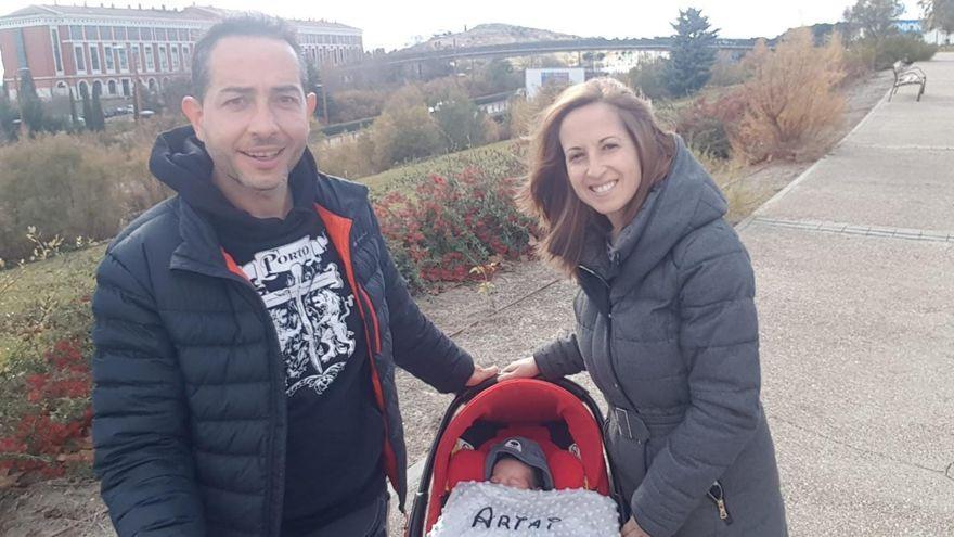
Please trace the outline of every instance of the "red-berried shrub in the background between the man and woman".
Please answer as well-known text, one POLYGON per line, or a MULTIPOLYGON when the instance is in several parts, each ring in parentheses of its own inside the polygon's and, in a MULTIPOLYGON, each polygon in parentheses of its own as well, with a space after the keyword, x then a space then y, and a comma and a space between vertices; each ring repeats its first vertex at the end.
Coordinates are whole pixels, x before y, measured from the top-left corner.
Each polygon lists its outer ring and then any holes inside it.
POLYGON ((532 222, 514 203, 518 179, 477 168, 431 176, 414 195, 394 190, 376 204, 382 232, 412 285, 481 280, 476 266, 529 253, 532 222))

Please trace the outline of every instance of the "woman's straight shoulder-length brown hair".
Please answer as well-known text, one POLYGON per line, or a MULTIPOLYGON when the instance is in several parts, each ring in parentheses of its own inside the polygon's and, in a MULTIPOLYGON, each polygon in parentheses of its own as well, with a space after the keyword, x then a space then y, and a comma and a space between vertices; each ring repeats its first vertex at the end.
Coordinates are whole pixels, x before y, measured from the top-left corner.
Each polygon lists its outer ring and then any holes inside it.
POLYGON ((519 203, 525 213, 540 222, 538 255, 568 276, 576 273, 580 263, 586 229, 596 222, 605 223, 606 217, 573 192, 559 143, 559 127, 573 110, 597 102, 616 108, 640 157, 642 181, 626 207, 626 221, 636 216, 649 189, 666 178, 675 155, 675 139, 659 127, 649 103, 613 78, 594 78, 571 86, 543 111, 530 140, 529 180, 519 203))

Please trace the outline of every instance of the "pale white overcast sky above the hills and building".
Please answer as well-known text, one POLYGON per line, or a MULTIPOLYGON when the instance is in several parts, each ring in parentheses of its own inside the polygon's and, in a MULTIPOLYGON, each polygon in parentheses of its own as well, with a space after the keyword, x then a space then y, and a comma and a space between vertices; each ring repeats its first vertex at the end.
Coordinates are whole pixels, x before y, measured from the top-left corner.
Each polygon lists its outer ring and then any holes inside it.
MULTIPOLYGON (((324 18, 363 30, 364 48, 394 50, 426 40, 435 34, 463 31, 484 23, 506 23, 581 37, 655 37, 672 34, 669 24, 680 9, 702 10, 720 36, 726 38, 775 37, 788 28, 815 23, 835 23, 854 0, 104 0, 105 5, 185 8, 216 5, 235 10, 262 10, 288 18, 324 18)), ((0 15, 33 3, 0 0, 0 15)), ((59 0, 61 4, 82 1, 59 0)), ((89 0, 89 5, 100 1, 89 0)), ((918 18, 917 0, 904 0, 905 18, 918 18)), ((2 67, 0 67, 2 68, 2 67)))

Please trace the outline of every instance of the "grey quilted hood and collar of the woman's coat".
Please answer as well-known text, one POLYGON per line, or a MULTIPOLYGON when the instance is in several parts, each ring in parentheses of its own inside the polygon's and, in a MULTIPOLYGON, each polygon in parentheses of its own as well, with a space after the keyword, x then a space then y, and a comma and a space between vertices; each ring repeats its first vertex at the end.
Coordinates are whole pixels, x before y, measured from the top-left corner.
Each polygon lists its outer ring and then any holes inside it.
POLYGON ((682 138, 673 136, 676 151, 672 168, 649 191, 633 221, 611 243, 596 228, 588 234, 583 265, 607 281, 619 273, 641 281, 679 241, 727 210, 719 187, 682 138))

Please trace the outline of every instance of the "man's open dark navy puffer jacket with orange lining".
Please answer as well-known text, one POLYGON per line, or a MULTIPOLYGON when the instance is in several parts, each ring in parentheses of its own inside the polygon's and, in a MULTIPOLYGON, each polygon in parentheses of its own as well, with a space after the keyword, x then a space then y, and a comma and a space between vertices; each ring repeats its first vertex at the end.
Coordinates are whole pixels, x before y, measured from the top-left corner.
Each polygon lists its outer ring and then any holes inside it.
MULTIPOLYGON (((175 163, 182 135, 160 137, 152 164, 175 163)), ((320 175, 308 153, 300 166, 315 178, 315 210, 356 290, 386 427, 384 465, 403 508, 395 363, 452 392, 463 387, 473 361, 411 299, 368 189, 320 175)), ((119 535, 279 535, 283 358, 261 299, 211 226, 179 196, 167 200, 115 239, 98 282, 94 468, 119 535)))

